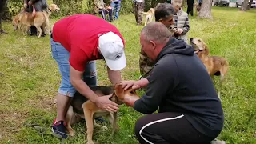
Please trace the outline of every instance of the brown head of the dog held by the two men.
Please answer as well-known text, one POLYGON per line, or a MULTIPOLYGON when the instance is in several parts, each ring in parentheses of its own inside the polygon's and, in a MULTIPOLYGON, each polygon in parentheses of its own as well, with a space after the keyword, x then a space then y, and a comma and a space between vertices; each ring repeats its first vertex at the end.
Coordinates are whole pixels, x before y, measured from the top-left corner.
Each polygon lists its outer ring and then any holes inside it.
POLYGON ((111 100, 113 102, 118 103, 118 105, 121 105, 126 96, 127 97, 138 97, 138 94, 136 93, 136 90, 133 90, 131 87, 128 90, 124 90, 122 88, 122 83, 117 83, 114 86, 114 93, 113 93, 113 97, 111 97, 111 100))

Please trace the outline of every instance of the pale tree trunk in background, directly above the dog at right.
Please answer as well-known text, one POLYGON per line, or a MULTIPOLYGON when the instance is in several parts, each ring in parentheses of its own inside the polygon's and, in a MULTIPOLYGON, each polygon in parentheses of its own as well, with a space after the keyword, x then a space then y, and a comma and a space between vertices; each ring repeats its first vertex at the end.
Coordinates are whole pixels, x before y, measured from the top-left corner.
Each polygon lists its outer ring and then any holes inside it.
POLYGON ((202 6, 198 14, 198 18, 212 18, 211 15, 212 0, 203 0, 202 6))

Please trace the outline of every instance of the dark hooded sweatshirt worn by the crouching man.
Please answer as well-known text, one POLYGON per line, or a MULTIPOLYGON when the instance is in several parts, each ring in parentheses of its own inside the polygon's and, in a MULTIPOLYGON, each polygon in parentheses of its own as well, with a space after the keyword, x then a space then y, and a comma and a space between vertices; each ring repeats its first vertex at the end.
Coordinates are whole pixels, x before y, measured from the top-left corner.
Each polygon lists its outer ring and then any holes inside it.
POLYGON ((215 137, 223 127, 222 104, 192 46, 170 38, 147 77, 146 94, 134 103, 143 114, 158 110, 184 114, 202 134, 215 137))

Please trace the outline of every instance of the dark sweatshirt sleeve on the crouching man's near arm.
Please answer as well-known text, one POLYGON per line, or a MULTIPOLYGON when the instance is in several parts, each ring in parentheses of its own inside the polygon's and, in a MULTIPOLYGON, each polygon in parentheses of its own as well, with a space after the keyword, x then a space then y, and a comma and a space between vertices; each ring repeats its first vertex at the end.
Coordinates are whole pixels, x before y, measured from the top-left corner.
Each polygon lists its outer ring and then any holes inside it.
POLYGON ((134 103, 134 110, 142 114, 151 114, 158 110, 158 106, 170 94, 177 85, 178 68, 174 57, 170 62, 168 58, 162 58, 154 66, 149 77, 146 94, 134 103))

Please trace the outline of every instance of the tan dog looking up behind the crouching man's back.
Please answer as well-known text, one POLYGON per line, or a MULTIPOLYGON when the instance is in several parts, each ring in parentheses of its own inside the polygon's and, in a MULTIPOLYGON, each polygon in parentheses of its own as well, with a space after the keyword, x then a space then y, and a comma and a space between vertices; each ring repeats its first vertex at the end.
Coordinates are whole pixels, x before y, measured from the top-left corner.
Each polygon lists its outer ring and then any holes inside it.
POLYGON ((226 61, 226 58, 218 56, 208 56, 209 49, 206 46, 206 43, 203 42, 201 38, 190 38, 190 43, 194 47, 195 53, 201 59, 202 63, 206 66, 210 77, 214 78, 214 75, 220 76, 218 89, 218 97, 220 98, 222 81, 226 72, 229 70, 229 63, 226 61))

